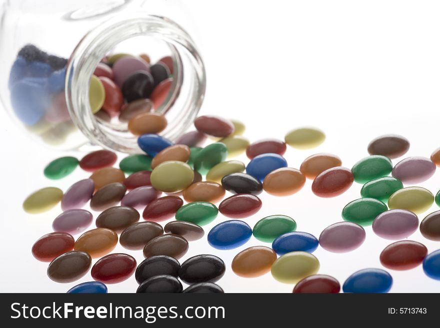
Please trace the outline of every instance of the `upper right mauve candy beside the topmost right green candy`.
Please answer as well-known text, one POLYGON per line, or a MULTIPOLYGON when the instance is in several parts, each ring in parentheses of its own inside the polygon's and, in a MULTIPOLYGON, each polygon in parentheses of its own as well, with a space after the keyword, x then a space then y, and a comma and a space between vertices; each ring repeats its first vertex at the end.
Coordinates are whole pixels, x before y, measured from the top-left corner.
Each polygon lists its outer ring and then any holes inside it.
POLYGON ((392 176, 404 184, 426 181, 435 173, 435 164, 426 157, 408 157, 392 169, 392 176))

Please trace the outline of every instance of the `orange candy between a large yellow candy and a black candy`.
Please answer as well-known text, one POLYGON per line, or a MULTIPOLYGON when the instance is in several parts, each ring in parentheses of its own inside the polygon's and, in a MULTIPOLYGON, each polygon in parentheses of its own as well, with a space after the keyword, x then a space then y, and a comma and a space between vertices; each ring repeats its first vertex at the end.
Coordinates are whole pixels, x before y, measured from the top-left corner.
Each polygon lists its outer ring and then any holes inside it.
POLYGON ((224 197, 225 191, 221 185, 212 181, 195 182, 183 190, 183 198, 190 202, 217 203, 224 197))

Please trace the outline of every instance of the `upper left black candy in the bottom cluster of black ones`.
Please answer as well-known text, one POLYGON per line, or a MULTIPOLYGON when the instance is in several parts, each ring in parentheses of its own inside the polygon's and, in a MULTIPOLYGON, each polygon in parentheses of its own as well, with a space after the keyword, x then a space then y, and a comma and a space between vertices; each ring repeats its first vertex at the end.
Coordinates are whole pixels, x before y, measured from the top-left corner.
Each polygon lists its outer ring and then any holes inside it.
POLYGON ((134 277, 138 284, 155 276, 173 276, 178 277, 180 263, 167 255, 152 256, 143 260, 136 268, 134 277))

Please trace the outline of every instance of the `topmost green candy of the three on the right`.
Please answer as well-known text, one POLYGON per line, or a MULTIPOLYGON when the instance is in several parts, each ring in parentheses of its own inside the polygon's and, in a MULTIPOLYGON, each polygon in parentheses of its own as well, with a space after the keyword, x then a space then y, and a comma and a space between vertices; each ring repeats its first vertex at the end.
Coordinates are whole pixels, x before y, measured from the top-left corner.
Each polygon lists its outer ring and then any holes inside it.
POLYGON ((372 155, 362 158, 351 168, 354 181, 366 183, 373 179, 386 177, 392 170, 392 163, 388 157, 372 155))

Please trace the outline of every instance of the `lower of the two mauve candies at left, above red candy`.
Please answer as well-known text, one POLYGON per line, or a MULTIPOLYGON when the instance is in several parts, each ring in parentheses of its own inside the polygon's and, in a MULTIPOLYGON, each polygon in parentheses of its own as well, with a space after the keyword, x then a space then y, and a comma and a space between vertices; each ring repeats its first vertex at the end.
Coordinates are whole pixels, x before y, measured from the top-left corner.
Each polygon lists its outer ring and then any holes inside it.
POLYGON ((93 216, 86 210, 67 210, 53 220, 53 231, 66 232, 70 235, 79 234, 93 221, 93 216))

